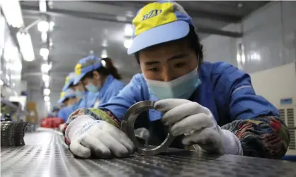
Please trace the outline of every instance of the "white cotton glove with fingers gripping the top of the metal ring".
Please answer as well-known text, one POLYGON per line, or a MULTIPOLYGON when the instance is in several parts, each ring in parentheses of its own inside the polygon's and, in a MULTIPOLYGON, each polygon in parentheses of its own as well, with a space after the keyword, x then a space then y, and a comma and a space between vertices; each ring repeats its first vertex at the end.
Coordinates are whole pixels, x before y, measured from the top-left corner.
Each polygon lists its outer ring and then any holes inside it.
POLYGON ((187 99, 162 99, 154 108, 164 113, 161 121, 169 126, 171 135, 185 135, 183 145, 207 153, 242 154, 237 136, 221 129, 206 107, 187 99))

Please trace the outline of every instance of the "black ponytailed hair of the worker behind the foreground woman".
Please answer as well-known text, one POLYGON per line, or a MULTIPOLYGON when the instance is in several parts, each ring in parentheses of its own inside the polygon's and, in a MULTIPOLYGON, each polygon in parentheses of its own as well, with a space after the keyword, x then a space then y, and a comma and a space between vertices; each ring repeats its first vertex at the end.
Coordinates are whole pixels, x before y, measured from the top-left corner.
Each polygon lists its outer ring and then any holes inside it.
MULTIPOLYGON (((109 57, 103 58, 102 61, 106 62, 106 66, 97 68, 96 70, 93 70, 93 71, 98 71, 98 73, 105 76, 113 75, 113 77, 118 80, 122 79, 121 75, 118 73, 117 68, 115 68, 112 60, 109 57)), ((86 75, 84 75, 84 78, 93 78, 93 71, 89 71, 89 73, 86 73, 86 75)), ((81 80, 83 80, 84 78, 82 78, 81 80)))

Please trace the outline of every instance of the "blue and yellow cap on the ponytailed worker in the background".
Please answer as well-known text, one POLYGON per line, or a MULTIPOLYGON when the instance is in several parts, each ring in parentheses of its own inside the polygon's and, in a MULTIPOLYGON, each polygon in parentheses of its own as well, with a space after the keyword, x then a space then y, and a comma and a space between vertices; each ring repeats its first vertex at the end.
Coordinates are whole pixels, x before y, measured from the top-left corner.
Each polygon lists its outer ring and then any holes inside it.
POLYGON ((89 73, 90 71, 94 71, 98 68, 103 67, 102 60, 97 56, 87 56, 84 59, 80 59, 75 66, 75 74, 76 77, 74 78, 74 85, 78 84, 81 78, 89 73))

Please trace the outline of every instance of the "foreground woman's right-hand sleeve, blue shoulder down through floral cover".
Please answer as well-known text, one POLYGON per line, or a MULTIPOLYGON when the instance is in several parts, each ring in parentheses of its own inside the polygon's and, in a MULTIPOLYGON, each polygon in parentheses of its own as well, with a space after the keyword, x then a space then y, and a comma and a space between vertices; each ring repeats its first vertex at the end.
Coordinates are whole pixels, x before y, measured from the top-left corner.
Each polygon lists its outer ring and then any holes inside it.
POLYGON ((279 159, 287 152, 290 134, 280 120, 278 109, 256 95, 247 73, 228 63, 218 63, 212 71, 215 90, 224 97, 232 120, 222 128, 241 141, 244 155, 279 159))

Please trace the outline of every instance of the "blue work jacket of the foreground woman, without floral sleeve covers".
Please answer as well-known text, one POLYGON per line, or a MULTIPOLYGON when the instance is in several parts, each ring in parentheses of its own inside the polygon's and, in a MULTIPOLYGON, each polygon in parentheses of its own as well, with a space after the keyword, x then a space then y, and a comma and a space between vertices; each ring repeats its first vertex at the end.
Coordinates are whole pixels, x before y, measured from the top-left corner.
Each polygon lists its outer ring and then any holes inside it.
MULTIPOLYGON (((231 64, 204 62, 200 65, 198 73, 201 84, 189 100, 210 109, 220 126, 237 119, 279 116, 278 109, 273 104, 256 95, 250 76, 231 64)), ((132 104, 144 100, 158 99, 149 93, 144 75, 137 74, 118 96, 111 98, 100 108, 111 111, 119 121, 122 121, 125 111, 132 104)), ((160 118, 161 112, 149 110, 150 121, 160 118)))

